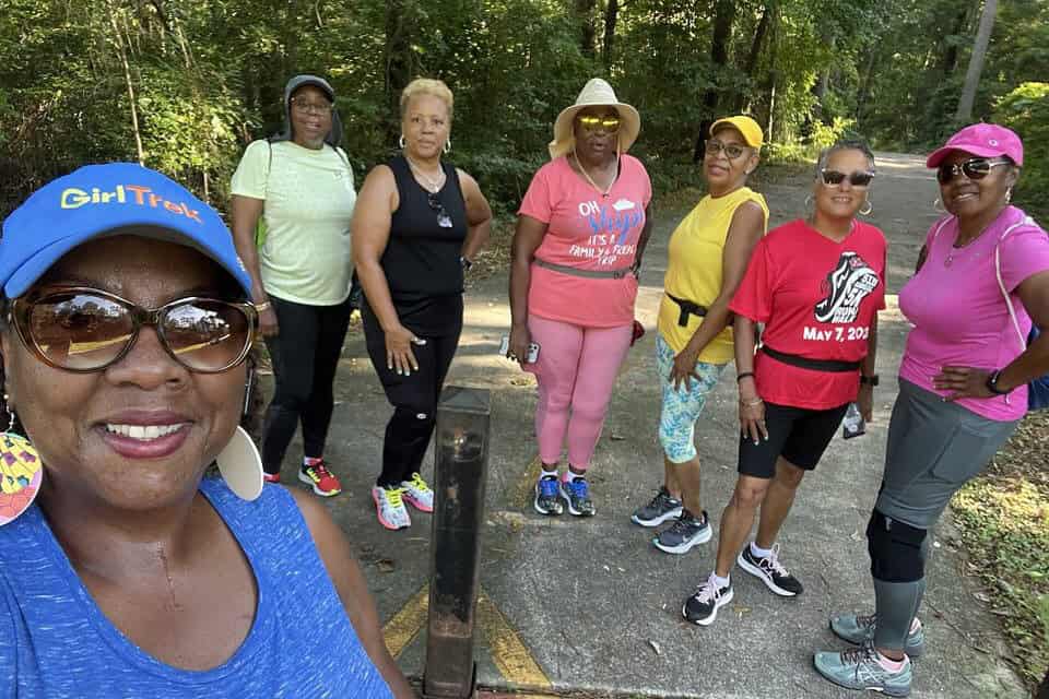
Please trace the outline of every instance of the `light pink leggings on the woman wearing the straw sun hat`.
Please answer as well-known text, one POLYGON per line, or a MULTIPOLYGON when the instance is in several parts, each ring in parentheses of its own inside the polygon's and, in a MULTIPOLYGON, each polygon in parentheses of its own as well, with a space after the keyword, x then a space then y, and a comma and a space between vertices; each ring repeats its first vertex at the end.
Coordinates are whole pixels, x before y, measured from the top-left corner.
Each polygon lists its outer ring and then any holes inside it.
POLYGON ((530 367, 539 383, 539 457, 543 463, 557 463, 567 435, 568 463, 586 470, 609 412, 615 377, 630 346, 633 323, 582 328, 530 316, 528 329, 540 347, 539 360, 530 367))

